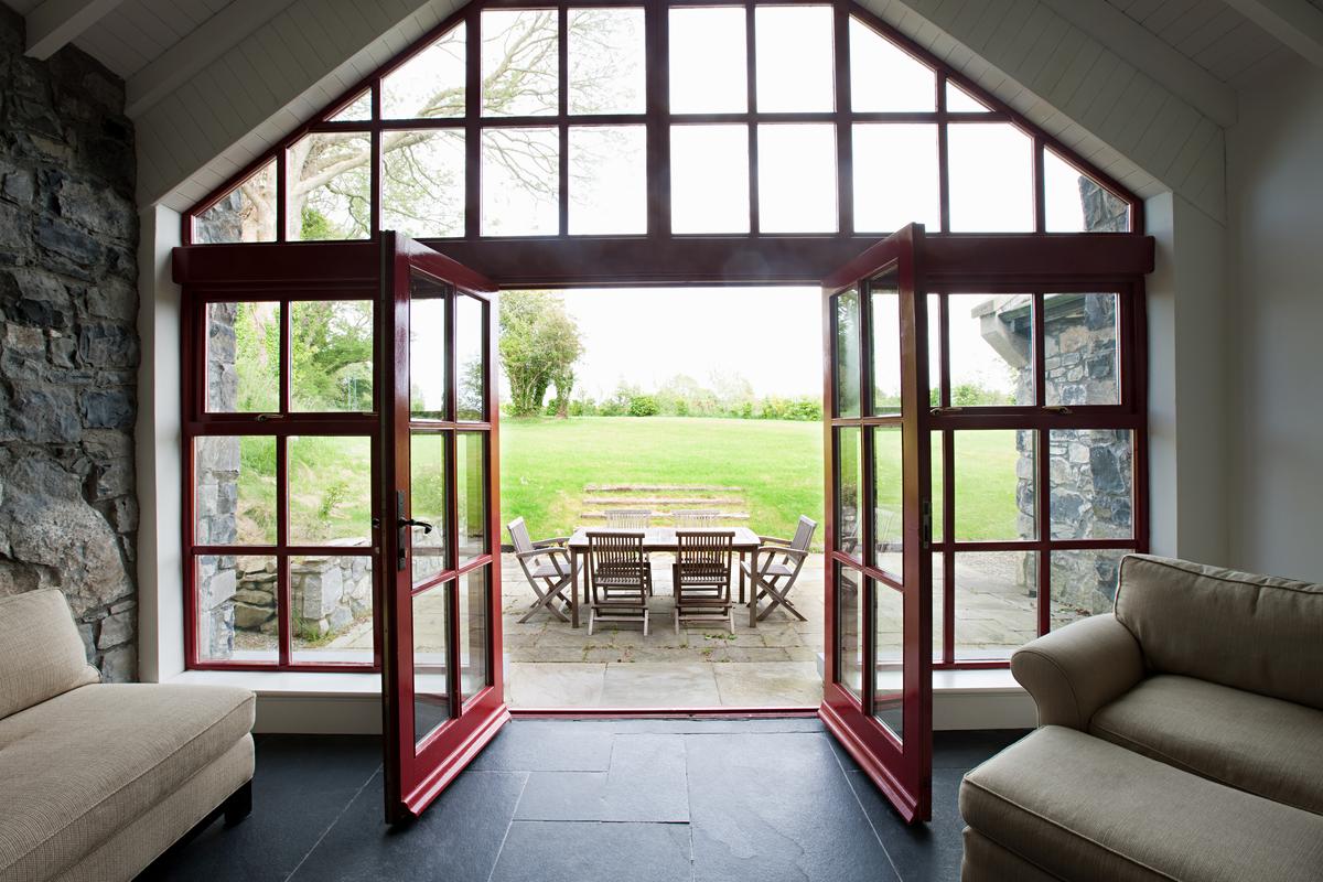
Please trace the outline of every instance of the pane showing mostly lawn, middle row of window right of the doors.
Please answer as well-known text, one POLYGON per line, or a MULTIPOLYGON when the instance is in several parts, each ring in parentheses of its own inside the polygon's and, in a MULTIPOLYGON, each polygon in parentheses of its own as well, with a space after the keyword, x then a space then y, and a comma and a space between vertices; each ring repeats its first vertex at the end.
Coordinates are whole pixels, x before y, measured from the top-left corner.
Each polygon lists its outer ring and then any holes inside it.
POLYGON ((1035 432, 955 432, 955 540, 1037 538, 1035 432))

